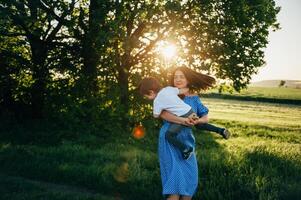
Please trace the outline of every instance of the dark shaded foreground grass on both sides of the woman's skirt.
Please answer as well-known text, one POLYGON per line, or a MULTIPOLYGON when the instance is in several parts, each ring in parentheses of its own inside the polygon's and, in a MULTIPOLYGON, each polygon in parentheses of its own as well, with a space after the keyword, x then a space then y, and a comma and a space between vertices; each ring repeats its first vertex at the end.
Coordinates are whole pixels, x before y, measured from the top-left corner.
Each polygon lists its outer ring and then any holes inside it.
MULTIPOLYGON (((300 196, 300 163, 274 155, 264 146, 229 151, 231 138, 224 140, 211 133, 194 133, 199 164, 199 188, 194 199, 297 199, 300 196)), ((2 143, 0 173, 78 187, 116 199, 160 199, 157 135, 149 134, 141 140, 128 136, 99 144, 95 136, 56 146, 2 143)), ((25 197, 46 195, 51 199, 57 194, 53 199, 74 199, 73 193, 37 188, 20 179, 1 181, 0 188, 20 190, 25 197)))

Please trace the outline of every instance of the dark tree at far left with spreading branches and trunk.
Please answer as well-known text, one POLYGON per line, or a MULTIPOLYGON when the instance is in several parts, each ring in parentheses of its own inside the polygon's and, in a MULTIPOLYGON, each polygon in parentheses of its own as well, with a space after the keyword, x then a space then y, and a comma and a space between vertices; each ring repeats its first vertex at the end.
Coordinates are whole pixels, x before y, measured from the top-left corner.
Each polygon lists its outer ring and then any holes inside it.
POLYGON ((16 74, 14 71, 8 71, 3 75, 6 79, 13 77, 21 84, 30 82, 26 85, 26 90, 17 90, 18 86, 6 84, 8 87, 6 90, 12 94, 3 97, 3 101, 7 99, 10 101, 9 109, 14 114, 16 111, 13 107, 19 103, 28 107, 33 117, 43 117, 45 98, 48 95, 47 86, 54 81, 50 77, 51 70, 62 72, 65 69, 66 72, 66 67, 68 68, 70 63, 76 63, 72 61, 75 57, 70 56, 73 44, 66 29, 67 26, 73 26, 71 13, 74 5, 75 1, 30 0, 1 3, 1 40, 17 41, 17 46, 14 48, 9 45, 2 48, 1 45, 1 57, 6 56, 7 60, 1 65, 22 72, 16 74), (67 20, 67 18, 71 19, 67 20), (65 50, 61 53, 62 49, 65 50), (28 76, 22 76, 23 74, 28 76), (27 99, 24 100, 20 96, 25 96, 27 99))

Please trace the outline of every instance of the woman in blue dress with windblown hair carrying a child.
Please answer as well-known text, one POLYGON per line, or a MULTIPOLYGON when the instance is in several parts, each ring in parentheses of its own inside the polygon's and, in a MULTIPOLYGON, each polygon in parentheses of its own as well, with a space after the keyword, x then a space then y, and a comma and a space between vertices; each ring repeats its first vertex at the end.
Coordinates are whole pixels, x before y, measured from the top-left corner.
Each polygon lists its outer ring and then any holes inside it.
MULTIPOLYGON (((214 83, 214 78, 194 72, 186 67, 176 68, 171 76, 172 86, 178 88, 188 87, 190 92, 192 89, 207 89, 214 83)), ((190 200, 198 185, 198 166, 195 154, 193 153, 188 160, 182 159, 179 155, 180 151, 165 138, 169 122, 189 126, 208 123, 208 109, 203 106, 197 95, 192 95, 190 92, 185 94, 183 101, 190 105, 193 111, 197 113, 199 116, 198 120, 189 121, 186 118, 177 117, 166 111, 163 111, 160 115, 165 121, 159 135, 159 162, 163 195, 168 200, 190 200)), ((187 146, 195 148, 195 138, 191 127, 182 129, 178 137, 187 146)))

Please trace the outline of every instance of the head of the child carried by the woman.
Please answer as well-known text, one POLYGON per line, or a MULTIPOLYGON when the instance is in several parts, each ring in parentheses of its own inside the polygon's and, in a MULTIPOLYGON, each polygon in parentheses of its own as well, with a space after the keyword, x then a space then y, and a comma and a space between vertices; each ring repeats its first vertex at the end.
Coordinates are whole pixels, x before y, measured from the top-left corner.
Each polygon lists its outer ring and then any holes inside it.
POLYGON ((139 92, 142 96, 146 97, 149 100, 153 100, 156 98, 158 92, 161 89, 160 82, 153 78, 144 78, 139 83, 139 92))

